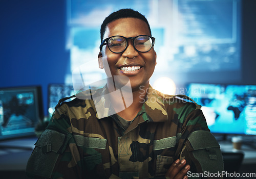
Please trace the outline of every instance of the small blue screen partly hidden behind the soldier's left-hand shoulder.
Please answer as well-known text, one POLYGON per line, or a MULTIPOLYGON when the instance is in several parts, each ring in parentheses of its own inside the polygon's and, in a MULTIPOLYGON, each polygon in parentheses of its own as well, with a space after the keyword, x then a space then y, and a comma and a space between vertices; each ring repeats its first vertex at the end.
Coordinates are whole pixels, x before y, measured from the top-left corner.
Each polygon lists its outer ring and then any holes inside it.
MULTIPOLYGON (((70 97, 74 95, 73 85, 69 84, 49 84, 48 86, 48 115, 52 117, 55 106, 58 104, 59 99, 70 97)), ((66 101, 72 100, 68 99, 66 101)))

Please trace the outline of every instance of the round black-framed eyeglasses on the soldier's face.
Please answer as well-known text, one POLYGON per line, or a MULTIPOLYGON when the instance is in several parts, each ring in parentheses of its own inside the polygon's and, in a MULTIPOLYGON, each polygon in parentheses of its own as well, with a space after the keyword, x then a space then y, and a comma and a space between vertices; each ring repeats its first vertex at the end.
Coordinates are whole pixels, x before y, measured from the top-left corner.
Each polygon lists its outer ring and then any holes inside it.
POLYGON ((138 52, 148 52, 154 46, 156 38, 148 35, 139 35, 137 37, 112 36, 104 39, 99 49, 101 51, 102 46, 107 44, 111 52, 122 53, 127 48, 128 39, 133 40, 133 46, 138 52))

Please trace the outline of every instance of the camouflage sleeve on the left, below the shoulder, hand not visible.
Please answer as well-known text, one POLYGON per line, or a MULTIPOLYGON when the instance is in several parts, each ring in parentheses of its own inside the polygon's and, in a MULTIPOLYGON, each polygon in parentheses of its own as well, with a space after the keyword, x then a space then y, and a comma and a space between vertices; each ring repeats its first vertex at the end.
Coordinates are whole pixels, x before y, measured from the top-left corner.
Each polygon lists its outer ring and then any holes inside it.
POLYGON ((26 173, 30 178, 83 178, 79 148, 67 116, 56 110, 35 143, 26 173))

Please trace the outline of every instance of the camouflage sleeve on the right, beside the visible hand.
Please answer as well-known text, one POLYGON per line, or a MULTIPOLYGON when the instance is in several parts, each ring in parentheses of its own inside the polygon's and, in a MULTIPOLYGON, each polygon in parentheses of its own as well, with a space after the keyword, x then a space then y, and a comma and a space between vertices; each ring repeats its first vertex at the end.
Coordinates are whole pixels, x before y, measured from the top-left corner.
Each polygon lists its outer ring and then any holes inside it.
POLYGON ((210 133, 200 109, 193 110, 183 123, 184 144, 180 159, 186 159, 191 173, 224 171, 220 145, 210 133))

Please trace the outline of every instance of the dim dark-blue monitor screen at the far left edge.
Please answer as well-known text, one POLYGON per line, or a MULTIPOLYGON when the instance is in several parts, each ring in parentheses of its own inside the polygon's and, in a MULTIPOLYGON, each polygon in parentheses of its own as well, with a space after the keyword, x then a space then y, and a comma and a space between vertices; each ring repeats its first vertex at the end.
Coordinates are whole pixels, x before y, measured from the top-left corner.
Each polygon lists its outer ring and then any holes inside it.
POLYGON ((0 140, 34 135, 42 118, 41 87, 0 89, 0 140))

